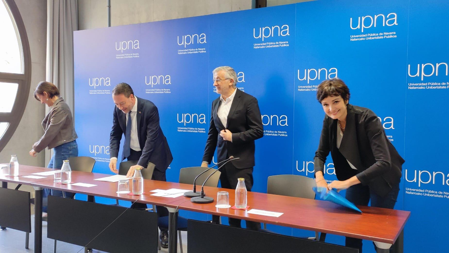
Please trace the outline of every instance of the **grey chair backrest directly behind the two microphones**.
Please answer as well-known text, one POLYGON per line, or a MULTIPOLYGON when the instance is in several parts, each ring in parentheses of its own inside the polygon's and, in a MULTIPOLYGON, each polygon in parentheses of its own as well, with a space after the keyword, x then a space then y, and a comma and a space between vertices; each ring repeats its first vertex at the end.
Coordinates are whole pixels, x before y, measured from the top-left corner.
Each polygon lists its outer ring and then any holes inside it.
MULTIPOLYGON (((179 171, 179 182, 181 184, 193 184, 195 177, 198 176, 201 172, 204 172, 207 170, 208 167, 187 167, 187 168, 181 168, 179 171)), ((198 177, 196 180, 197 185, 202 185, 204 183, 204 180, 208 176, 210 176, 213 172, 215 172, 216 169, 211 169, 208 172, 205 172, 201 176, 198 177)), ((217 187, 218 180, 220 180, 220 174, 221 172, 215 172, 214 175, 207 180, 205 186, 211 186, 211 187, 217 187)))

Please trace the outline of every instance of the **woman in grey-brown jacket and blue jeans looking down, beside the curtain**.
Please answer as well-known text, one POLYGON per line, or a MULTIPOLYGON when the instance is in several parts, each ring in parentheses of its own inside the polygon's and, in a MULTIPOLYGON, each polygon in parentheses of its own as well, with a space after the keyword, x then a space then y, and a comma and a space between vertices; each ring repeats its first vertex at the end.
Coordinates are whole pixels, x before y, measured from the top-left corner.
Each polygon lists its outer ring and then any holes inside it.
MULTIPOLYGON (((40 103, 51 107, 51 110, 42 121, 45 133, 33 145, 30 155, 36 156, 36 153, 40 153, 46 147, 53 149, 53 156, 47 167, 54 170, 61 169, 62 161, 78 156, 76 144, 78 135, 75 132, 72 112, 64 99, 59 96, 57 87, 51 82, 41 81, 34 91, 34 97, 40 103)), ((53 190, 52 195, 62 196, 62 192, 53 190)), ((72 196, 73 194, 66 193, 66 197, 72 196)))

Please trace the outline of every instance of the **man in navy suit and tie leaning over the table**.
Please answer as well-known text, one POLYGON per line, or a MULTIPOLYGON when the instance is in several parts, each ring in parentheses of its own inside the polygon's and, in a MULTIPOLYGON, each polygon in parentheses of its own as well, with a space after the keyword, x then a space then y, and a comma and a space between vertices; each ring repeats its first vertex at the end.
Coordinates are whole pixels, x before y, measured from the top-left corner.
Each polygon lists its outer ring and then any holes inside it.
MULTIPOLYGON (((114 119, 110 133, 110 163, 109 168, 114 173, 117 169, 120 140, 125 134, 123 159, 138 160, 137 164, 128 170, 128 177, 134 175, 135 168, 145 169, 149 162, 154 163, 153 180, 166 181, 165 171, 173 160, 162 129, 159 125, 158 108, 153 102, 137 98, 127 83, 119 83, 112 90, 114 100, 114 119)), ((133 208, 146 208, 146 204, 135 203, 133 208)), ((158 216, 168 216, 165 207, 157 206, 158 216)), ((168 233, 161 231, 161 244, 168 247, 168 233)))

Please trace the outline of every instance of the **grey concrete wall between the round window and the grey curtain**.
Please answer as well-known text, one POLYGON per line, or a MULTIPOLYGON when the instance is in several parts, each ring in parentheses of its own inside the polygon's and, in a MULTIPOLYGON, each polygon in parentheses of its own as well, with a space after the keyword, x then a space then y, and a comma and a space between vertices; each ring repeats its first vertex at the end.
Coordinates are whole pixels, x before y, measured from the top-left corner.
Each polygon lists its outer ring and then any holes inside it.
MULTIPOLYGON (((15 0, 25 24, 31 51, 31 87, 25 112, 13 137, 0 152, 1 163, 8 163, 11 154, 17 154, 20 164, 44 167, 44 152, 31 157, 28 152, 32 145, 44 134, 41 122, 45 117, 45 107, 34 97, 34 88, 45 80, 47 0, 15 0)), ((25 188, 22 186, 22 188, 25 188)), ((21 189, 22 189, 21 188, 21 189)))

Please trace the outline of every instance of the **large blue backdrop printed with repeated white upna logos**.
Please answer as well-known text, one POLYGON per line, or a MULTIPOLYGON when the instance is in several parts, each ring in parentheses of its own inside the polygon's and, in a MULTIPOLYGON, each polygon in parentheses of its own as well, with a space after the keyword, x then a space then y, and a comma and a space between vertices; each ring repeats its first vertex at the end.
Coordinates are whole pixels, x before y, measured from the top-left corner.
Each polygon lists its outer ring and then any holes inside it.
MULTIPOLYGON (((258 99, 264 124, 264 137, 256 141, 253 191, 266 192, 272 175, 313 178, 325 116, 316 88, 339 77, 350 88, 350 103, 377 114, 406 160, 395 206, 412 212, 404 251, 441 252, 444 244, 426 235, 445 234, 440 217, 449 207, 449 168, 444 159, 429 164, 449 139, 441 128, 447 120, 436 111, 444 108, 449 88, 448 11, 449 5, 437 0, 326 0, 76 31, 79 155, 97 160, 94 172, 112 174, 111 91, 127 82, 137 97, 158 107, 174 158, 167 181, 177 182, 180 168, 202 162, 211 103, 219 96, 212 70, 228 65, 237 72, 238 89, 258 99)), ((336 179, 330 156, 324 172, 326 180, 336 179)), ((326 242, 344 244, 344 237, 329 235, 326 242)), ((363 250, 374 252, 370 242, 363 250)))

